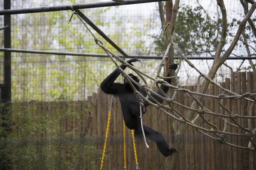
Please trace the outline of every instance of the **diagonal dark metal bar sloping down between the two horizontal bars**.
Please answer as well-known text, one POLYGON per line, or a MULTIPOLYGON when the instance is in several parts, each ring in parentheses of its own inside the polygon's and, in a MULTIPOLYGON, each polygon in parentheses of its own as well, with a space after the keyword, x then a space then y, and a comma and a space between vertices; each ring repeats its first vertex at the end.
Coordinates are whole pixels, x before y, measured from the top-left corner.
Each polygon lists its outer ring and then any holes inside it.
POLYGON ((108 37, 103 31, 101 31, 101 29, 99 29, 99 27, 97 27, 88 17, 86 17, 80 9, 77 9, 75 11, 89 26, 91 26, 97 33, 99 33, 114 48, 116 48, 116 50, 119 51, 119 53, 121 53, 124 57, 128 57, 125 51, 123 51, 118 45, 116 45, 116 43, 113 42, 110 37, 108 37))

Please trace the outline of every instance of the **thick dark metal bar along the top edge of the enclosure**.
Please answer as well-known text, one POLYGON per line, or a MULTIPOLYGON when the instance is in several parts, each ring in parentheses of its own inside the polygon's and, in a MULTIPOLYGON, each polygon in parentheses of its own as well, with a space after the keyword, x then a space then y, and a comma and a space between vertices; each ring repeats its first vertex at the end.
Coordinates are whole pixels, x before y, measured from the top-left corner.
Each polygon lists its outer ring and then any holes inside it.
MULTIPOLYGON (((138 4, 138 3, 152 3, 159 2, 162 0, 128 0, 125 5, 138 4)), ((108 2, 98 2, 98 3, 81 3, 74 4, 73 9, 86 9, 86 8, 100 8, 107 6, 122 6, 123 4, 116 3, 113 1, 108 2)), ((45 6, 38 8, 21 8, 21 9, 8 9, 8 10, 0 10, 0 15, 4 14, 29 14, 29 13, 37 13, 37 12, 52 12, 52 11, 66 11, 71 10, 70 5, 62 5, 62 6, 45 6)))

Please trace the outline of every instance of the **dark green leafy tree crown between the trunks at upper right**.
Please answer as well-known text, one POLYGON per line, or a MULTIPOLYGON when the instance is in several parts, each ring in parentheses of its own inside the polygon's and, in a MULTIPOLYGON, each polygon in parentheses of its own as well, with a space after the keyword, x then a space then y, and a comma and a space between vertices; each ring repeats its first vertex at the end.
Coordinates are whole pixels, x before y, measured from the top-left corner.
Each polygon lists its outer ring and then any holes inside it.
MULTIPOLYGON (((218 45, 221 31, 221 20, 212 20, 204 14, 201 7, 192 8, 182 5, 177 15, 175 40, 186 55, 200 55, 205 51, 214 51, 218 45)), ((154 35, 159 54, 167 48, 164 35, 154 35)))

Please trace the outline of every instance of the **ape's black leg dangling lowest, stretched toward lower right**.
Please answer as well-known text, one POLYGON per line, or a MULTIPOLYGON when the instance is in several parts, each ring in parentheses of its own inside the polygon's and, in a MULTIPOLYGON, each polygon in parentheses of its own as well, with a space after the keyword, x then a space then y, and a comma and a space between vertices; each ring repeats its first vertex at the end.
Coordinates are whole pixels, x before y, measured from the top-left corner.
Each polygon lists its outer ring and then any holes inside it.
MULTIPOLYGON (((163 156, 169 156, 172 154, 173 151, 177 151, 175 148, 169 149, 169 145, 167 144, 166 140, 164 139, 163 135, 160 132, 151 129, 146 125, 143 125, 143 129, 146 138, 157 143, 157 148, 163 154, 163 156)), ((137 129, 135 130, 135 136, 140 138, 143 136, 141 126, 137 126, 137 129)))

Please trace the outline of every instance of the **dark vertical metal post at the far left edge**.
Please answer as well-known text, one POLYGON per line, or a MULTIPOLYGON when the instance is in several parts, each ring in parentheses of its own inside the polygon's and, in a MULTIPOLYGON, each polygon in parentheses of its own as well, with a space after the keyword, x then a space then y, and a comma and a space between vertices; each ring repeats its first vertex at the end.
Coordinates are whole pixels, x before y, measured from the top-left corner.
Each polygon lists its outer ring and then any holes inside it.
MULTIPOLYGON (((11 0, 4 0, 3 2, 4 9, 11 8, 11 0)), ((11 15, 5 14, 3 17, 3 25, 8 26, 4 29, 3 34, 3 41, 4 41, 4 48, 11 48, 11 15)), ((7 103, 11 102, 11 52, 5 51, 4 58, 3 58, 3 81, 6 85, 4 88, 1 89, 0 92, 0 103, 7 103)))

